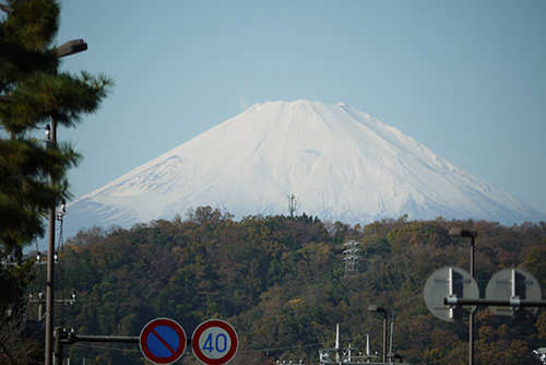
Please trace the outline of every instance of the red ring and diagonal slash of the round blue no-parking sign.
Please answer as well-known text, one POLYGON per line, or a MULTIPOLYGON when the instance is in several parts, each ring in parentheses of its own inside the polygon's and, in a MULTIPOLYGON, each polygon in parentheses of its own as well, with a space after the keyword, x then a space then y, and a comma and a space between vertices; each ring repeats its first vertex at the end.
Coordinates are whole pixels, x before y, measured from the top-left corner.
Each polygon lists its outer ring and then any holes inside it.
POLYGON ((171 364, 178 361, 186 351, 186 344, 187 338, 183 328, 177 321, 169 318, 157 318, 150 321, 146 326, 144 326, 139 338, 139 346, 144 357, 146 357, 152 363, 161 365, 171 364), (165 340, 162 339, 161 334, 155 331, 155 329, 161 326, 166 326, 169 329, 174 330, 179 340, 178 348, 176 350, 169 348, 169 351, 173 354, 165 357, 155 355, 149 346, 149 340, 151 335, 154 335, 156 339, 158 339, 159 342, 163 342, 166 346, 168 346, 168 344, 165 343, 165 340))

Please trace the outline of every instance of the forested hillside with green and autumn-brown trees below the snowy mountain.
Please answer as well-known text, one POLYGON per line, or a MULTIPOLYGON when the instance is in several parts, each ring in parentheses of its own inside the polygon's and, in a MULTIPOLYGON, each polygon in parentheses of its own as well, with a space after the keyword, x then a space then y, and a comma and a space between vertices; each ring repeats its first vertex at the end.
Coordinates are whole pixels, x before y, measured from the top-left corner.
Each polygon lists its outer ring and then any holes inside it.
MULTIPOLYGON (((546 286, 546 225, 511 227, 484 221, 384 220, 366 226, 320 222, 306 215, 249 216, 241 221, 209 207, 186 217, 131 229, 92 227, 70 238, 57 266, 57 297, 75 291, 72 306, 57 305, 57 323, 78 334, 139 335, 158 317, 191 335, 202 321, 230 322, 240 340, 234 364, 302 360, 318 364, 340 323, 342 345, 363 349, 366 334, 381 353, 377 304, 394 315, 393 351, 411 364, 467 364, 467 320, 444 322, 423 298, 427 278, 444 266, 468 270, 468 239, 452 226, 477 229, 476 278, 482 291, 505 268, 523 268, 546 286), (343 244, 361 243, 358 272, 345 274, 343 244)), ((45 287, 38 270, 34 292, 45 287)), ((28 310, 34 310, 29 308, 28 310)), ((546 346, 546 314, 520 321, 476 315, 476 364, 536 364, 546 346)), ((75 343, 72 364, 145 364, 138 345, 75 343), (112 350, 106 350, 112 349, 112 350)), ((187 350, 182 364, 197 364, 187 350)))

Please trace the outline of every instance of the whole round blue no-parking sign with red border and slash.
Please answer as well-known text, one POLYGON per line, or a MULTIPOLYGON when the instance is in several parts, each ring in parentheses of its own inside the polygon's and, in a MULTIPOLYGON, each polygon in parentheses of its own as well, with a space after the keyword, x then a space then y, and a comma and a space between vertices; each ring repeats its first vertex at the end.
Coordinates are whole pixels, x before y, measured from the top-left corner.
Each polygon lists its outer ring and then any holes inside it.
POLYGON ((173 319, 157 318, 150 321, 140 333, 142 354, 154 364, 171 364, 186 351, 186 332, 173 319))

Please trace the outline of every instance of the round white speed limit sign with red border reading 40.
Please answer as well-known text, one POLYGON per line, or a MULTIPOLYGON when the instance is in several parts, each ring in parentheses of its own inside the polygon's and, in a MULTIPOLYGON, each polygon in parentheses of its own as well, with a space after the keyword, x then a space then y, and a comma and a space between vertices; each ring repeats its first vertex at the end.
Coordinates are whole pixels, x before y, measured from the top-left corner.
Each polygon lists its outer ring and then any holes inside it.
POLYGON ((210 319, 199 325, 191 337, 193 354, 205 365, 223 365, 237 353, 239 339, 226 321, 210 319))

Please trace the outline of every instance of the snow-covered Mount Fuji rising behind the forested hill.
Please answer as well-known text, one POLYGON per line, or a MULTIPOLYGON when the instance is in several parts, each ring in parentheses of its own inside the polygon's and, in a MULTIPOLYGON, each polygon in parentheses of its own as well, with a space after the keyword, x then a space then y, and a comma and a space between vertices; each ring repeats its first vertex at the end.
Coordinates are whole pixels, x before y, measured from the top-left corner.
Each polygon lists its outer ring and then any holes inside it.
POLYGON ((256 104, 68 207, 66 232, 130 227, 211 205, 236 219, 288 213, 546 221, 546 213, 345 104, 256 104))

